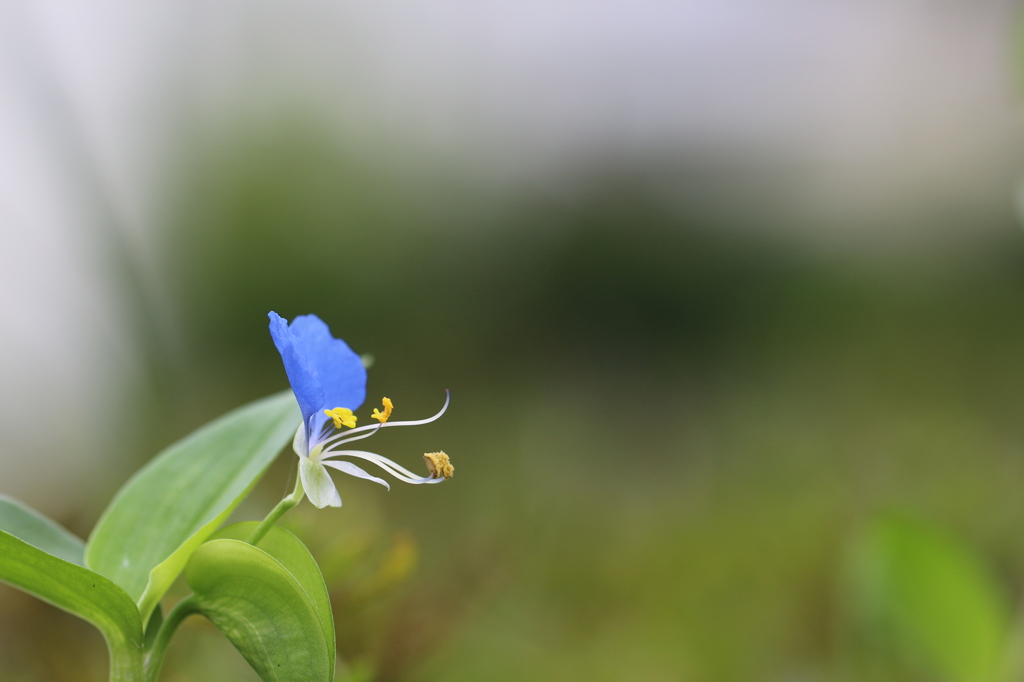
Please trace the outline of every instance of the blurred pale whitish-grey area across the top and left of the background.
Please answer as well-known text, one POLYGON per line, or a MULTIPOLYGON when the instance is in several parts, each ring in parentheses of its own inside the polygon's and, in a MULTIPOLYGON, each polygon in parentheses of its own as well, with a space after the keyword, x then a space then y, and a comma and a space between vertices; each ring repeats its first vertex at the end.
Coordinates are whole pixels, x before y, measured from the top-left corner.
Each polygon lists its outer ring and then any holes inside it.
POLYGON ((0 489, 77 504, 144 381, 132 307, 174 346, 160 232, 197 140, 314 112, 382 164, 487 191, 616 165, 818 247, 939 239, 938 218, 1012 210, 1017 9, 2 0, 0 489))

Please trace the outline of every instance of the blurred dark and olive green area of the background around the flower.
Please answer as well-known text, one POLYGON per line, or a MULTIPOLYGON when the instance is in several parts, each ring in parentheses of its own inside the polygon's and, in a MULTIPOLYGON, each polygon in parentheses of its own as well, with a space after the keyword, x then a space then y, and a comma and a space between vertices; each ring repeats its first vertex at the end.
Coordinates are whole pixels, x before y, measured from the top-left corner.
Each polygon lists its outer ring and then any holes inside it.
MULTIPOLYGON (((398 418, 453 396, 439 422, 374 443, 414 468, 443 450, 453 480, 339 476, 342 509, 286 517, 332 590, 340 680, 1018 670, 1012 173, 953 210, 897 202, 874 237, 837 246, 814 236, 856 216, 808 217, 772 188, 790 173, 813 191, 804 171, 768 165, 754 191, 729 166, 654 153, 496 182, 286 109, 181 133, 151 260, 97 230, 139 370, 100 464, 62 506, 33 504, 86 536, 160 449, 286 386, 267 311, 314 312, 375 358, 364 421, 382 395, 398 418)), ((292 466, 238 517, 262 516, 292 466)), ((104 675, 97 634, 0 586, 0 679, 104 675)), ((193 619, 162 679, 256 678, 193 619)))

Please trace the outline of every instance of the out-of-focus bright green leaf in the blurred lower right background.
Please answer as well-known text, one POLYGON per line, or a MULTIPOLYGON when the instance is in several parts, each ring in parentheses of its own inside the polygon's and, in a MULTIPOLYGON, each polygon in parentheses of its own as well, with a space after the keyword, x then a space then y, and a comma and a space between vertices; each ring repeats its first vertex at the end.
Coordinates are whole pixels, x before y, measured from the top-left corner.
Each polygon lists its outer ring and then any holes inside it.
POLYGON ((991 571, 968 547, 928 526, 886 518, 856 564, 864 623, 890 653, 948 682, 999 678, 1010 609, 991 571))

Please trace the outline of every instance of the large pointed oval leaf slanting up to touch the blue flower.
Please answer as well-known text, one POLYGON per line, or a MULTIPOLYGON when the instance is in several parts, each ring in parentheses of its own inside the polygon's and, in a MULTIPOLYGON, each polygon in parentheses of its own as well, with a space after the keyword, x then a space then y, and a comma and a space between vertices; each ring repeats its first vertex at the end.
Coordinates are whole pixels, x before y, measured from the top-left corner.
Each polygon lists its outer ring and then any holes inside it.
POLYGON ((89 538, 85 563, 124 588, 142 620, 220 526, 301 421, 285 391, 174 443, 125 483, 89 538))

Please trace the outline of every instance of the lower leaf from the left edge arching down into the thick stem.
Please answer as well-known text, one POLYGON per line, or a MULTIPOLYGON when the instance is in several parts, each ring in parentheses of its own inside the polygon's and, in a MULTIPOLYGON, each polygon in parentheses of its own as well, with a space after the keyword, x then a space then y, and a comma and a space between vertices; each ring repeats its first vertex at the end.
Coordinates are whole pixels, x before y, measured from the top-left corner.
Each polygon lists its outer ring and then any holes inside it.
POLYGON ((0 531, 0 580, 85 619, 109 643, 141 646, 142 621, 124 590, 4 531, 0 531))

